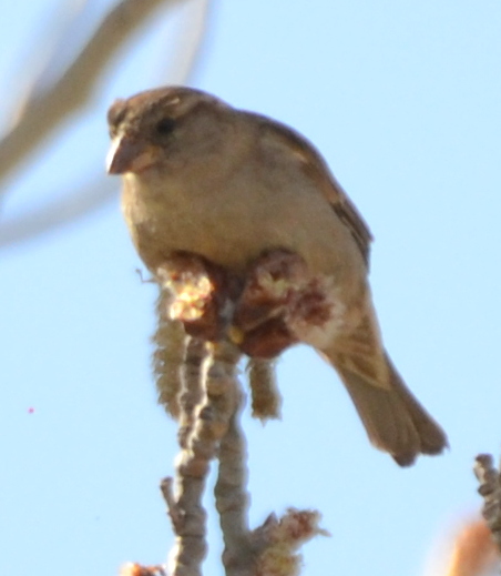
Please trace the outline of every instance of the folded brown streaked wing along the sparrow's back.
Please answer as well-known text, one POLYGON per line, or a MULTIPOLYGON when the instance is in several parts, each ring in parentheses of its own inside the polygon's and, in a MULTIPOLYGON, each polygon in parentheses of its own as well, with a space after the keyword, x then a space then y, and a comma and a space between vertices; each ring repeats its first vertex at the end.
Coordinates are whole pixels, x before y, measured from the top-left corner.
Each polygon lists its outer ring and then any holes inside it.
POLYGON ((311 142, 285 124, 259 114, 249 113, 249 115, 258 121, 262 131, 272 131, 275 138, 279 139, 282 144, 287 146, 300 162, 301 169, 311 179, 317 181, 317 188, 326 196, 339 220, 349 229, 355 242, 360 249, 366 265, 369 266, 372 234, 317 149, 311 142))

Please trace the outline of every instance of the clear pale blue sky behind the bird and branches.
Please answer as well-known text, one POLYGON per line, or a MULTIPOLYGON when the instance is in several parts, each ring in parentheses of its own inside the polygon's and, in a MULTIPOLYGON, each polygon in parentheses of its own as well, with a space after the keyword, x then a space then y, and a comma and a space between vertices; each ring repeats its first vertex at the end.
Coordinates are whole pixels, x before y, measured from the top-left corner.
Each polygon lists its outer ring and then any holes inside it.
MULTIPOLYGON (((3 101, 58 4, 6 4, 3 101)), ((84 118, 10 182, 4 219, 105 178, 109 104, 165 82, 173 27, 154 28, 114 61, 84 118)), ((305 546, 305 576, 421 574, 437 538, 480 506, 473 458, 501 444, 500 29, 494 1, 213 4, 191 84, 293 125, 325 155, 376 239, 386 345, 451 444, 398 468, 368 444, 333 370, 306 347, 287 352, 282 422, 244 421, 250 517, 323 513, 333 537, 305 546)), ((172 533, 157 485, 173 469, 175 426, 155 404, 155 293, 135 273, 117 195, 2 249, 0 267, 0 574, 162 562, 172 533)), ((207 574, 222 574, 213 514, 209 530, 207 574)))

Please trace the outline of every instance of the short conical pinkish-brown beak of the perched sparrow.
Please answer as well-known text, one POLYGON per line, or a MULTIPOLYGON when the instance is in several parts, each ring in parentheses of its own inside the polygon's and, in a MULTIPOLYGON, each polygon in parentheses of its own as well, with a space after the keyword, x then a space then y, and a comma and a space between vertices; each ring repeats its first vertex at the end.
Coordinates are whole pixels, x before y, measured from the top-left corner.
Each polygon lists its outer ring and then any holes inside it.
POLYGON ((108 173, 141 172, 155 162, 155 152, 154 146, 144 144, 141 140, 126 134, 117 135, 112 140, 106 156, 108 173))

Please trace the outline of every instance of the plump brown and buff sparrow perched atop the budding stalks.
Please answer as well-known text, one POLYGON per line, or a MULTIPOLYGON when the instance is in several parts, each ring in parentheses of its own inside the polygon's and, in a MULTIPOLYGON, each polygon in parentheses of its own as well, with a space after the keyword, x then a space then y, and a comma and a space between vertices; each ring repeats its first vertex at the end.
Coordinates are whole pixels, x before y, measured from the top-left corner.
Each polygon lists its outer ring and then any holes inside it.
POLYGON ((402 466, 442 452, 443 431, 381 342, 367 280, 369 229, 305 138, 181 87, 117 100, 108 121, 108 171, 123 175, 125 220, 153 273, 180 252, 234 276, 263 253, 298 254, 330 309, 321 326, 298 323, 295 335, 336 368, 371 443, 402 466))

